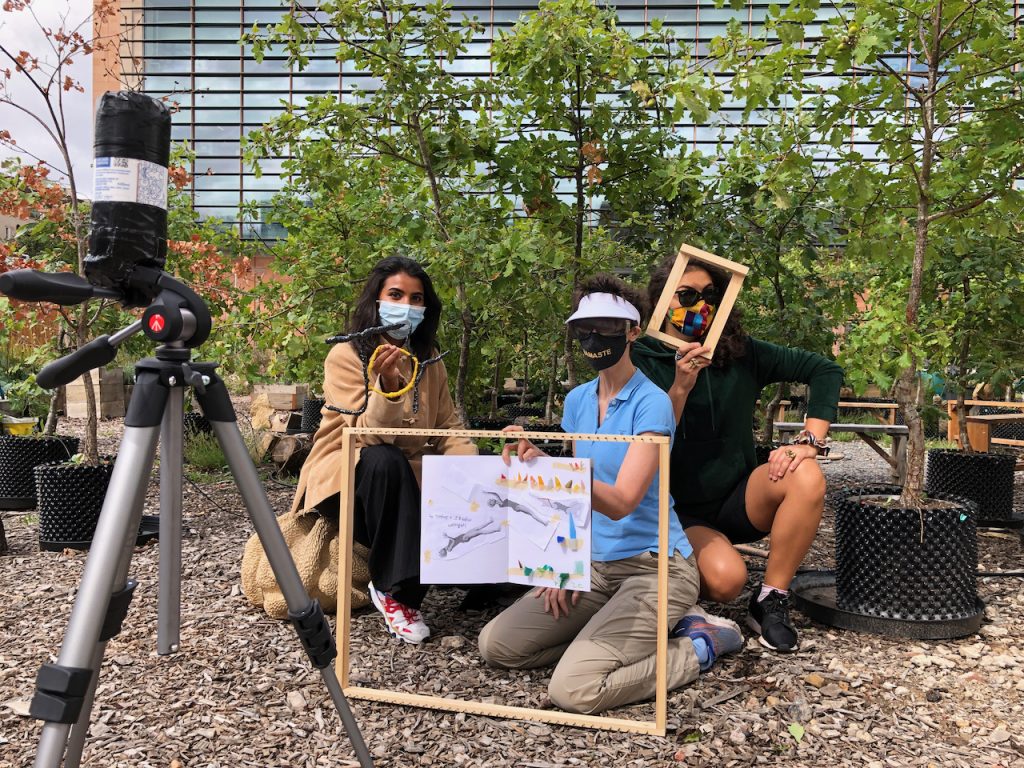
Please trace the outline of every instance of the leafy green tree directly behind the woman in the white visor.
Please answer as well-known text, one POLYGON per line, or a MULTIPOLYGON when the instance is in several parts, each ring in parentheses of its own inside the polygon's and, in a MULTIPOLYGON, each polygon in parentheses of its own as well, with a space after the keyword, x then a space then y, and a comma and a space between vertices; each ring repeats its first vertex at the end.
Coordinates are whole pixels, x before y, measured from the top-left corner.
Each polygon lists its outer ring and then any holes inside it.
POLYGON ((566 294, 582 276, 624 265, 587 248, 603 201, 624 240, 691 213, 702 164, 673 126, 686 114, 705 122, 721 95, 660 20, 638 39, 593 0, 546 0, 496 41, 493 60, 506 139, 493 177, 568 244, 566 294))

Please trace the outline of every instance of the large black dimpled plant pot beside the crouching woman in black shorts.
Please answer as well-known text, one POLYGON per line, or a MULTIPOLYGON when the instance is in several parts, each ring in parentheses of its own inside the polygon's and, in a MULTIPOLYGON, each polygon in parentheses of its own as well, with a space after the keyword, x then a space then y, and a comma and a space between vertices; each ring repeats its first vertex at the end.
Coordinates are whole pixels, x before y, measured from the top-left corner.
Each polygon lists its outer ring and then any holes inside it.
POLYGON ((978 611, 977 506, 930 495, 933 509, 901 509, 898 485, 837 492, 836 601, 881 618, 949 622, 978 611))

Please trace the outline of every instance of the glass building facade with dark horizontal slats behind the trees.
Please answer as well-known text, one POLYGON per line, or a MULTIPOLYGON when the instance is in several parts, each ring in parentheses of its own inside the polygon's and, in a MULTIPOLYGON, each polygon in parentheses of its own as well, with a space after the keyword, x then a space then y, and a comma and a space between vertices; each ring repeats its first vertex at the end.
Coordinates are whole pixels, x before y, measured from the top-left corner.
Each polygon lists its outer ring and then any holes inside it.
MULTIPOLYGON (((768 13, 769 0, 746 0, 739 10, 715 7, 714 0, 622 0, 613 3, 624 29, 641 33, 653 18, 673 28, 696 57, 708 54, 713 38, 730 18, 754 31, 768 13)), ((265 204, 281 186, 281 162, 263 164, 257 177, 242 160, 243 137, 280 114, 283 103, 301 104, 309 95, 369 88, 366 77, 343 71, 331 50, 311 57, 302 72, 291 71, 281 55, 256 61, 239 44, 253 25, 280 20, 287 0, 121 0, 125 43, 121 78, 141 84, 156 97, 178 104, 173 138, 187 141, 196 155, 193 194, 197 211, 242 227, 247 238, 274 238, 273 224, 243 223, 244 202, 265 204)), ((456 62, 468 77, 489 76, 490 44, 536 2, 454 0, 455 15, 475 16, 482 32, 456 62)), ((825 11, 823 11, 825 12, 825 11)), ((740 104, 726 104, 720 118, 738 121, 740 104)), ((694 148, 713 151, 719 128, 682 124, 678 130, 694 148)), ((726 129, 728 130, 728 129, 726 129)))

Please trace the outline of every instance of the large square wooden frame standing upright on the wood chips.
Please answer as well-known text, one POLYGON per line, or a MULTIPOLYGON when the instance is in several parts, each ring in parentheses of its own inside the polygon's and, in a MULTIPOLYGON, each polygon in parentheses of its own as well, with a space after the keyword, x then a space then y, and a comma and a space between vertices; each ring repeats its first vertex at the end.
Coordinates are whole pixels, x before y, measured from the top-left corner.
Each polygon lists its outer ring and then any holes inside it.
MULTIPOLYGON (((352 513, 354 510, 353 486, 355 483, 354 458, 358 435, 416 435, 420 437, 484 437, 510 438, 508 432, 498 430, 450 430, 450 429, 398 429, 383 427, 347 427, 342 432, 342 505, 338 520, 339 547, 341 553, 352 551, 352 513)), ((550 440, 551 432, 515 432, 515 438, 550 440)), ((577 715, 569 712, 534 710, 526 707, 510 707, 483 701, 469 701, 460 698, 404 693, 401 691, 361 688, 349 685, 348 652, 351 633, 351 590, 352 562, 348 557, 338 558, 338 660, 337 674, 342 690, 349 698, 368 701, 386 701, 407 707, 422 707, 431 710, 466 712, 487 717, 514 720, 536 720, 558 725, 572 725, 580 728, 597 728, 632 733, 648 733, 664 736, 668 716, 668 664, 669 664, 669 437, 666 435, 608 435, 608 434, 559 434, 558 439, 594 440, 606 442, 652 442, 658 446, 658 524, 657 524, 657 647, 655 650, 655 694, 654 720, 626 720, 601 715, 577 715)))

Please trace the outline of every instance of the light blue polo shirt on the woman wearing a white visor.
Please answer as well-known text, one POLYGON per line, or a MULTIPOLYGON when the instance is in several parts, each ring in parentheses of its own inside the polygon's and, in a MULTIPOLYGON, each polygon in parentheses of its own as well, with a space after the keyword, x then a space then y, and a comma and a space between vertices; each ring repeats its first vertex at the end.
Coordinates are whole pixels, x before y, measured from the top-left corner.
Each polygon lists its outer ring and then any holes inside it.
MULTIPOLYGON (((640 434, 655 432, 675 435, 676 419, 672 400, 664 390, 651 383, 640 371, 608 403, 604 423, 597 424, 597 385, 600 379, 581 384, 565 397, 562 429, 566 432, 586 434, 640 434)), ((598 442, 578 440, 575 455, 590 459, 594 479, 615 484, 618 468, 629 451, 628 442, 598 442)), ((658 471, 658 473, 660 470, 658 471)), ((592 519, 593 554, 597 561, 622 560, 644 552, 657 552, 657 480, 654 479, 633 512, 621 520, 612 520, 595 510, 592 519)), ((683 557, 693 552, 683 526, 679 523, 672 499, 669 499, 669 553, 676 551, 683 557)))

